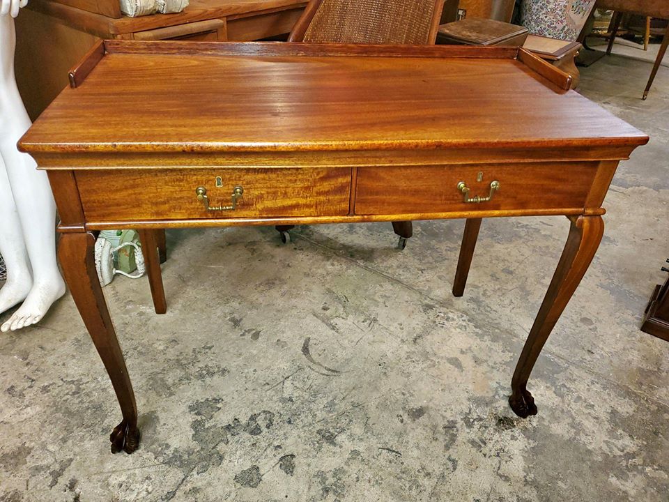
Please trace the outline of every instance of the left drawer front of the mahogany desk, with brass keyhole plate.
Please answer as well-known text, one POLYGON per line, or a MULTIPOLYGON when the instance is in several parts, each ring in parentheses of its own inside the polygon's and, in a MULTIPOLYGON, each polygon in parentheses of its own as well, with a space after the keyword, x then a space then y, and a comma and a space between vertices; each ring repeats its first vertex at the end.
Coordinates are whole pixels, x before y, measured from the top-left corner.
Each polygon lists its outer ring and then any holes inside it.
POLYGON ((88 222, 346 215, 351 190, 346 167, 105 169, 76 176, 88 222), (206 199, 197 198, 198 188, 206 199))

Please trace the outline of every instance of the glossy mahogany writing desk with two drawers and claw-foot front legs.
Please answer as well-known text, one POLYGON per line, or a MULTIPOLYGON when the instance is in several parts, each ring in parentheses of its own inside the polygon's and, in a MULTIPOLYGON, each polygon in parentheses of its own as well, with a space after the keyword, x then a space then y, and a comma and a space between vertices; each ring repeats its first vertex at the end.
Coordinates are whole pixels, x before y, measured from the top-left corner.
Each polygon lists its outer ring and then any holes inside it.
POLYGON ((139 443, 137 406, 95 273, 95 231, 139 229, 157 312, 161 231, 467 218, 463 294, 482 218, 566 215, 571 230, 512 380, 526 384, 603 233, 620 160, 647 136, 509 47, 105 42, 20 147, 46 169, 59 256, 139 443))

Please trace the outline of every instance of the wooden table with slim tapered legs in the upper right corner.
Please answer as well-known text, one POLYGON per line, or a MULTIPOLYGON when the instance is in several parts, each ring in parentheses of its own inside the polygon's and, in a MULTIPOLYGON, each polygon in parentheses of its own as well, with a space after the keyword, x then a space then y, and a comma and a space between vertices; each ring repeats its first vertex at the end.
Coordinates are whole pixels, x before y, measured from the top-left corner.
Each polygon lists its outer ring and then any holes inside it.
MULTIPOLYGON (((597 8, 605 8, 608 10, 615 10, 615 15, 613 15, 613 28, 611 29, 610 37, 608 40, 608 47, 606 48, 606 54, 611 53, 613 47, 613 41, 615 40, 615 34, 618 31, 620 26, 620 21, 622 20, 622 14, 636 13, 640 15, 645 15, 648 17, 659 17, 660 19, 669 19, 669 1, 667 0, 597 0, 597 8)), ((660 50, 657 53, 653 69, 650 73, 650 77, 646 84, 646 88, 643 91, 643 98, 648 97, 651 86, 657 75, 657 70, 660 68, 664 54, 667 52, 667 46, 669 45, 669 27, 664 33, 664 38, 662 39, 662 44, 660 45, 660 50)))

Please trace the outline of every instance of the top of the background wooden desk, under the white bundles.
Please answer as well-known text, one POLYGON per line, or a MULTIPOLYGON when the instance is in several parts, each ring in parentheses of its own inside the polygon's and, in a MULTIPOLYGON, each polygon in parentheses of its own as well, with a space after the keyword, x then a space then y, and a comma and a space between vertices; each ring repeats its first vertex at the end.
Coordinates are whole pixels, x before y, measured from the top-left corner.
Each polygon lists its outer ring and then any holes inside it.
POLYGON ((113 38, 126 33, 223 17, 235 19, 264 11, 298 8, 306 4, 307 0, 190 0, 190 5, 178 14, 119 18, 95 14, 53 0, 31 0, 28 5, 32 10, 56 17, 82 31, 101 38, 113 38))

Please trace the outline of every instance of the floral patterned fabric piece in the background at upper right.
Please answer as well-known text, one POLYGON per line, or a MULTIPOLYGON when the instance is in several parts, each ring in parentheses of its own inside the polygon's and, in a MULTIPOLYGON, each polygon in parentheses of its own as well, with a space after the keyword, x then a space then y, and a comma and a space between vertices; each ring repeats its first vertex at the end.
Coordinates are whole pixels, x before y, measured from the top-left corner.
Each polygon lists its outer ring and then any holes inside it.
POLYGON ((573 42, 596 0, 523 0, 522 24, 535 35, 573 42))

